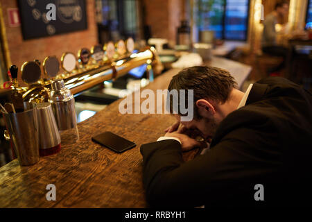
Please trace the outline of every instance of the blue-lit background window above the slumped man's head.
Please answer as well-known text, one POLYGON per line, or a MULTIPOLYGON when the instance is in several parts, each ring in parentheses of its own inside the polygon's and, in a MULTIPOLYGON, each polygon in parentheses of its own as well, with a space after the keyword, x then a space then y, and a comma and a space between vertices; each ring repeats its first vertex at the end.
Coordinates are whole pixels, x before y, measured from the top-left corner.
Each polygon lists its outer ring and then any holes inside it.
POLYGON ((198 28, 225 40, 246 40, 249 0, 198 0, 198 28))

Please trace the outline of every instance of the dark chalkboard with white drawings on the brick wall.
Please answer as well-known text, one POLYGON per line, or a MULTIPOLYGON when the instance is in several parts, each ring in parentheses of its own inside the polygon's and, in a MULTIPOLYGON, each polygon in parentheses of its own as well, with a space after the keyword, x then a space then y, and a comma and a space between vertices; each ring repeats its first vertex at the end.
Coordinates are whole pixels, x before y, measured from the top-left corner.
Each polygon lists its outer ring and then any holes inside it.
POLYGON ((85 0, 18 0, 18 3, 24 40, 87 29, 85 0), (46 9, 51 3, 53 7, 46 9), (49 21, 53 8, 55 20, 49 21))

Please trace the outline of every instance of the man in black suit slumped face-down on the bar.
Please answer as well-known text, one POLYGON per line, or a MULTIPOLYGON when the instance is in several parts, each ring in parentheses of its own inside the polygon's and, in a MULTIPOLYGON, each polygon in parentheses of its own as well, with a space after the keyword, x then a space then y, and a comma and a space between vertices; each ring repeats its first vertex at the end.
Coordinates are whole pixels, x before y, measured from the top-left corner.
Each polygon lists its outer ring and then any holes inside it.
POLYGON ((150 206, 311 205, 309 92, 269 77, 244 94, 228 71, 216 67, 183 69, 172 89, 193 89, 193 120, 141 146, 150 206), (212 138, 209 151, 183 162, 182 151, 199 145, 183 128, 212 138))

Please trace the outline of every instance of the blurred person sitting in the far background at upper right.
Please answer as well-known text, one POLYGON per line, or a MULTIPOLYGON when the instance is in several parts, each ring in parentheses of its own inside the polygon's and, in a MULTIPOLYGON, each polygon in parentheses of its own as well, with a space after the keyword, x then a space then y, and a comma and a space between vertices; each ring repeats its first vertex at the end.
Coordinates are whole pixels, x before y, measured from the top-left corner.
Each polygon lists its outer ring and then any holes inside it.
POLYGON ((266 16, 263 21, 263 35, 262 35, 262 51, 268 53, 272 56, 282 56, 283 62, 277 67, 274 67, 270 72, 279 71, 284 68, 285 60, 288 50, 281 45, 277 44, 277 31, 275 30, 275 25, 277 24, 277 19, 279 17, 283 18, 288 15, 288 2, 281 1, 275 4, 275 10, 266 16))

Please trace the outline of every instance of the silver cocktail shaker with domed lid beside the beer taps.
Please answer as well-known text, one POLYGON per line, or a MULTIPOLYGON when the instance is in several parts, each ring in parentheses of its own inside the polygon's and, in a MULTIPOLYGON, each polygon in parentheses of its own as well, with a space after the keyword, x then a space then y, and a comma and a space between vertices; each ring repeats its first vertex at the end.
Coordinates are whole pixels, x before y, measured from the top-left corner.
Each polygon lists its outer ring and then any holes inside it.
POLYGON ((61 144, 75 143, 79 139, 75 99, 71 91, 65 87, 64 80, 54 80, 51 83, 49 102, 61 135, 61 144))

